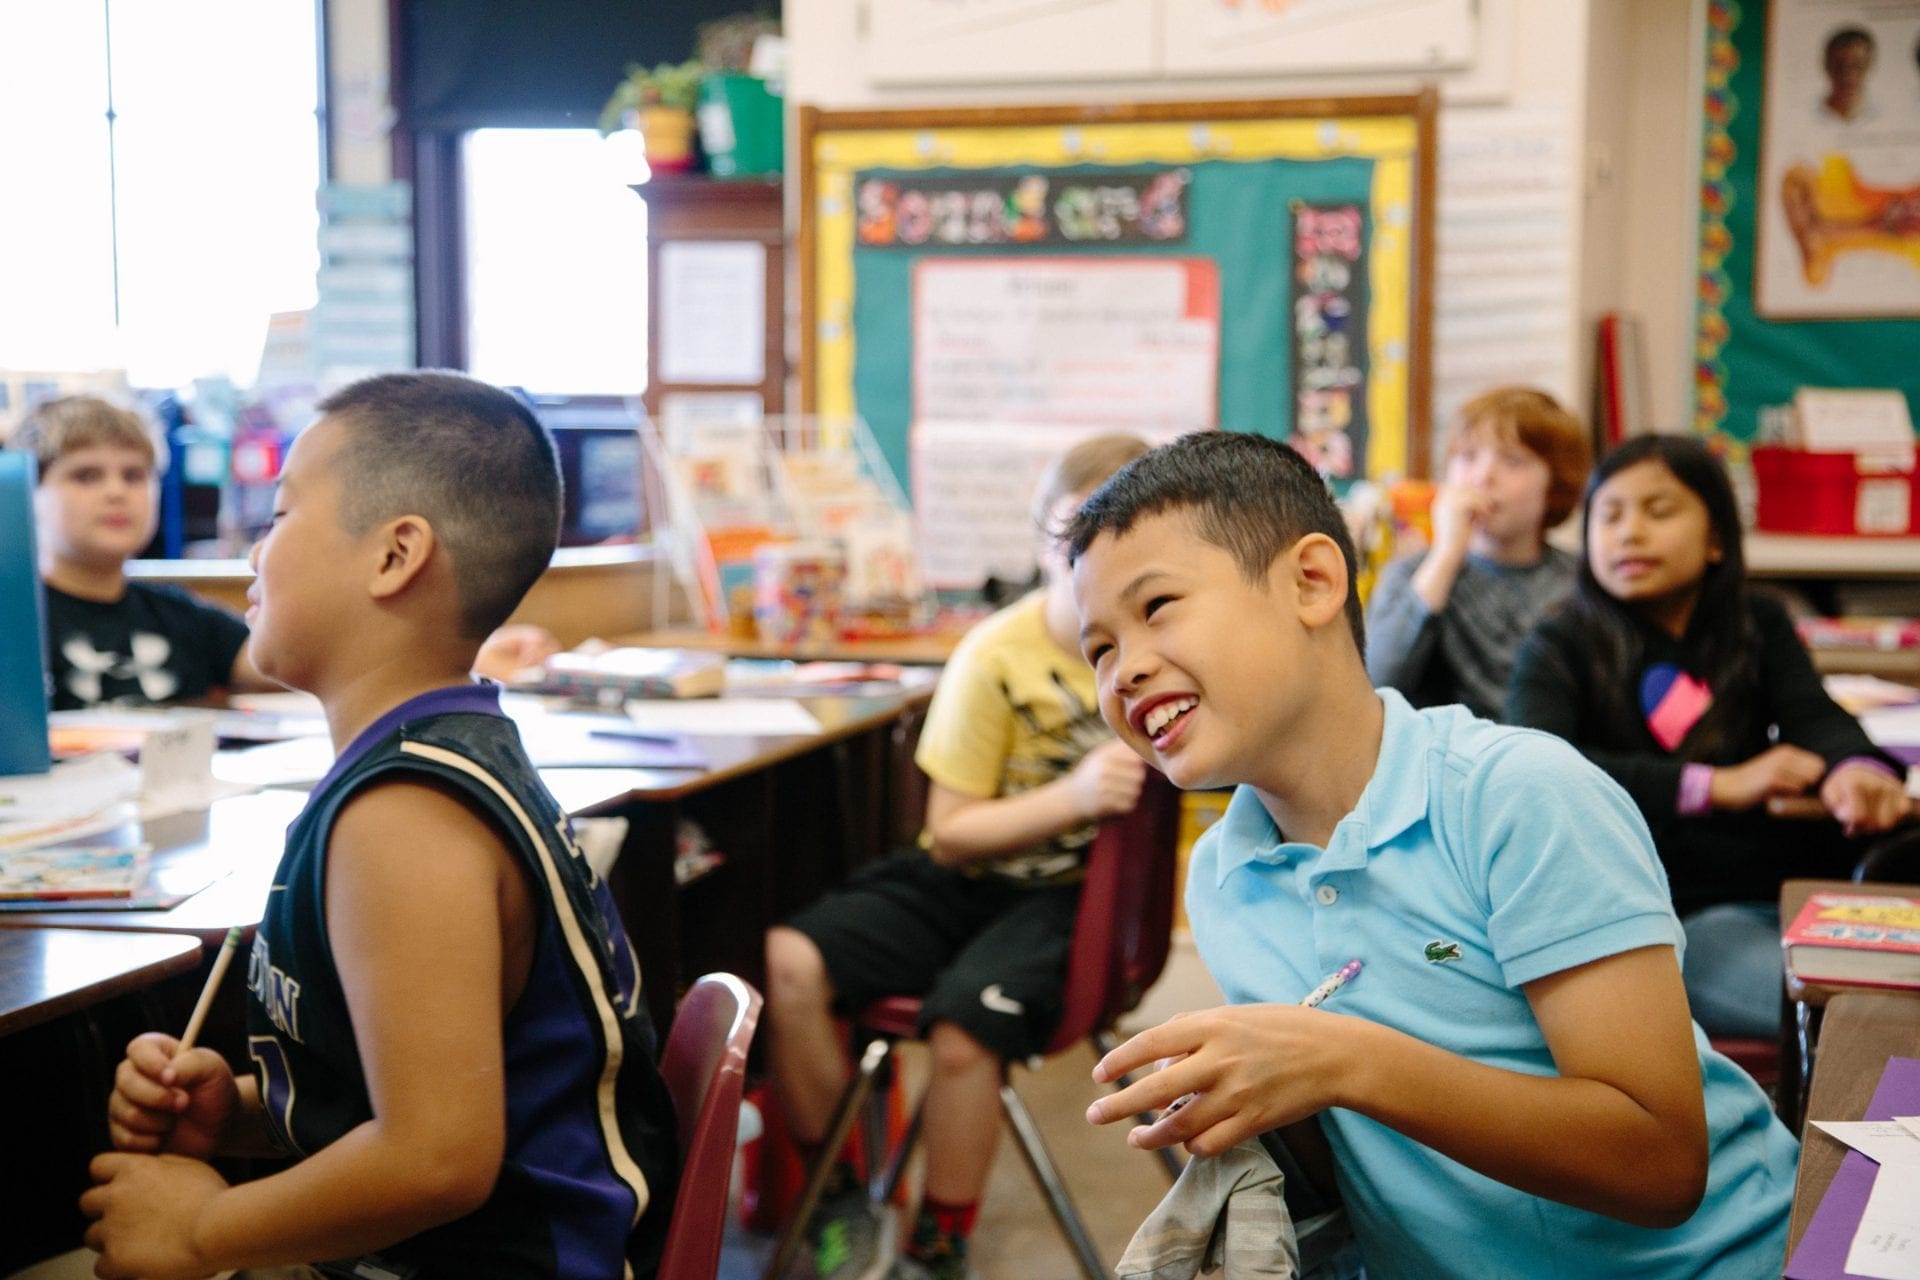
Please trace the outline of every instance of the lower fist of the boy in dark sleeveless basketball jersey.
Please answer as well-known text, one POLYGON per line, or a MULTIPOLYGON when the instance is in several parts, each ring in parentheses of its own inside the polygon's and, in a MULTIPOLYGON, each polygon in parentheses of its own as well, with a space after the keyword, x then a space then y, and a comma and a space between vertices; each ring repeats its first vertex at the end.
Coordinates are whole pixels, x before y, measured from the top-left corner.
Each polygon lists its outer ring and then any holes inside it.
POLYGON ((182 1155, 96 1155, 94 1188, 81 1196, 92 1219, 86 1247, 108 1280, 198 1280, 219 1267, 194 1247, 207 1201, 227 1190, 211 1165, 182 1155))

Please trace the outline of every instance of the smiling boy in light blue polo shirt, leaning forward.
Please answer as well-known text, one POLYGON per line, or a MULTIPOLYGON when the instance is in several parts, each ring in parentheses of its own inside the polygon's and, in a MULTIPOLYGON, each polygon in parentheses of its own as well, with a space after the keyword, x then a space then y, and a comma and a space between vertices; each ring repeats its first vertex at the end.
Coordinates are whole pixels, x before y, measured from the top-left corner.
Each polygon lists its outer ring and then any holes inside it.
POLYGON ((1238 785, 1187 881, 1233 1004, 1102 1059, 1177 1061, 1089 1119, 1192 1094, 1129 1140, 1217 1155, 1317 1115, 1373 1280, 1778 1274, 1797 1148, 1688 1015, 1638 810, 1557 739, 1371 689, 1313 470, 1187 436, 1068 543, 1108 723, 1181 787, 1238 785))

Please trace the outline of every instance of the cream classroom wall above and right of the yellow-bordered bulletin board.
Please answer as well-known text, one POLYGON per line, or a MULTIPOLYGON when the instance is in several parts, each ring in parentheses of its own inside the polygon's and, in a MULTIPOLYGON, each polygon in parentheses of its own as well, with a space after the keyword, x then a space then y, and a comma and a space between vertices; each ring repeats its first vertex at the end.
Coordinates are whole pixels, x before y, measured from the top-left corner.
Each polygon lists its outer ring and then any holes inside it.
MULTIPOLYGON (((981 106, 1004 102, 1121 102, 1167 98, 1281 98, 1404 92, 1415 77, 1235 77, 1052 84, 954 83, 876 88, 860 44, 862 6, 810 0, 785 15, 789 104, 822 107, 981 106)), ((1697 31, 1703 0, 1484 0, 1480 56, 1442 73, 1436 292, 1436 422, 1486 370, 1532 374, 1582 413, 1592 380, 1594 322, 1603 311, 1638 315, 1645 332, 1645 426, 1686 420, 1692 326, 1693 155, 1697 150, 1697 31), (1452 190, 1446 157, 1507 130, 1557 130, 1549 182, 1569 248, 1551 280, 1450 288, 1450 255, 1467 244, 1459 217, 1473 192, 1452 190), (1475 292, 1475 297, 1465 297, 1475 292), (1500 320, 1505 319, 1505 328, 1500 320)), ((1098 33, 1089 33, 1096 40, 1098 33)), ((1075 48, 1062 48, 1071 59, 1075 48)), ((1478 259, 1473 259, 1478 261, 1478 259)))

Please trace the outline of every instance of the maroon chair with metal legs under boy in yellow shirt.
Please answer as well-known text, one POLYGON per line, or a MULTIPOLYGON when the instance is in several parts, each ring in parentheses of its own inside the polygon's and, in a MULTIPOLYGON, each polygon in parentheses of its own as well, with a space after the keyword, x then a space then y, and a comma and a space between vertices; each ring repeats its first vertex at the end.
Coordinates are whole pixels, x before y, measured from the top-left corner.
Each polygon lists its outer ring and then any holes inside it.
MULTIPOLYGON (((1081 887, 1079 910, 1073 919, 1073 942, 1068 954, 1068 977, 1060 1027, 1043 1054, 1058 1054, 1081 1040, 1091 1040, 1096 1054, 1110 1054, 1117 1040, 1114 1021, 1129 1013, 1165 967, 1173 936, 1175 862, 1179 842, 1179 793, 1160 773, 1148 771, 1140 802, 1125 818, 1100 823, 1087 850, 1087 879, 1081 887)), ((885 1203, 893 1197, 906 1173, 906 1161, 920 1140, 922 1103, 900 1142, 889 1153, 887 1092, 876 1086, 891 1079, 893 1046, 920 1034, 920 1000, 891 996, 877 1000, 852 1019, 854 1042, 864 1042, 852 1079, 847 1082, 828 1126, 822 1155, 806 1174, 806 1186, 764 1270, 764 1280, 780 1280, 799 1253, 806 1221, 820 1205, 828 1174, 837 1153, 845 1150, 854 1121, 862 1126, 868 1157, 868 1196, 885 1203)), ((1116 1088, 1131 1084, 1121 1077, 1116 1088)), ((1060 1224, 1087 1280, 1106 1280, 1108 1268, 1081 1221, 1068 1192, 1060 1167, 1054 1163, 1041 1128, 1027 1103, 1021 1102, 1010 1079, 1010 1065, 1000 1069, 1000 1111, 1020 1153, 1027 1161, 1046 1207, 1060 1224)), ((1142 1115, 1140 1123, 1154 1117, 1142 1115)), ((1181 1171, 1181 1159, 1171 1148, 1156 1151, 1169 1178, 1181 1171)))

